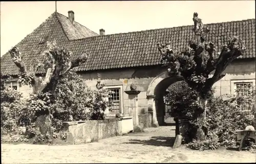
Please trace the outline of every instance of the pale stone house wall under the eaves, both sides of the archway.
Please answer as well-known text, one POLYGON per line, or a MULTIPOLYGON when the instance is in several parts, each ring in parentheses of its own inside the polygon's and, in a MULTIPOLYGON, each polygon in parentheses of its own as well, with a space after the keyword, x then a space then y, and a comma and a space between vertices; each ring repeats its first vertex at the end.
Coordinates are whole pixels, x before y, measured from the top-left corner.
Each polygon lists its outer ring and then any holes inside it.
MULTIPOLYGON (((138 106, 139 114, 148 112, 148 100, 146 98, 146 92, 148 86, 152 80, 162 72, 166 71, 165 68, 161 67, 148 67, 148 68, 137 68, 137 69, 121 69, 121 70, 99 70, 89 73, 81 73, 82 77, 86 79, 86 84, 89 87, 95 88, 97 83, 97 73, 101 75, 102 83, 106 86, 121 86, 123 93, 123 106, 122 112, 124 116, 129 116, 128 106, 129 99, 128 95, 124 93, 125 90, 130 90, 130 85, 134 83, 137 88, 141 91, 138 94, 138 106)), ((234 79, 255 79, 255 60, 238 60, 232 62, 224 71, 224 76, 220 81, 214 85, 216 87, 215 96, 221 94, 231 94, 231 80, 234 79)))

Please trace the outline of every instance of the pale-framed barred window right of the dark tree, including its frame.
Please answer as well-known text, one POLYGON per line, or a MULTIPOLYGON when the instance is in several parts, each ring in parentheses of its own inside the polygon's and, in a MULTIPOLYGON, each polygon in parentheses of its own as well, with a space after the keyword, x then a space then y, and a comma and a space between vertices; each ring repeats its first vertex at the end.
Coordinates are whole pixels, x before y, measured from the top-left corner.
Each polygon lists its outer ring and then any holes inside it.
MULTIPOLYGON (((255 79, 248 80, 231 80, 231 94, 241 96, 241 97, 250 97, 252 96, 252 89, 255 86, 255 79)), ((241 110, 252 110, 254 104, 250 105, 249 99, 246 99, 248 103, 246 105, 241 104, 241 101, 238 100, 237 104, 241 110)))

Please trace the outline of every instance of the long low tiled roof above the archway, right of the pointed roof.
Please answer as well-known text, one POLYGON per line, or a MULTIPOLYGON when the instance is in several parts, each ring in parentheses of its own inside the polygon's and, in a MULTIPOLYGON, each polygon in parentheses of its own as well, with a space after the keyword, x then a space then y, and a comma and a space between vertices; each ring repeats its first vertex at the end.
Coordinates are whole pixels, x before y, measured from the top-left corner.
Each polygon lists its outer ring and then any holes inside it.
MULTIPOLYGON (((207 41, 213 42, 219 50, 228 37, 237 35, 245 40, 247 48, 239 58, 255 58, 255 19, 205 25, 210 29, 207 41)), ((74 54, 84 51, 89 54, 88 61, 78 67, 79 71, 159 65, 161 54, 157 43, 170 41, 174 49, 183 50, 195 37, 193 28, 188 25, 90 37, 71 41, 69 48, 74 54)))

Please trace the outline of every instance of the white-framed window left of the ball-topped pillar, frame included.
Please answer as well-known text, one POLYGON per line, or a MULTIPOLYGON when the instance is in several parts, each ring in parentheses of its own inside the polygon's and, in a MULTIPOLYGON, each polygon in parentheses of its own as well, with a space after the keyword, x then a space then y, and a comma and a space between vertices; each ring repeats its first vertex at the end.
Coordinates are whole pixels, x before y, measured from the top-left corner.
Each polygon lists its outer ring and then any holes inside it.
POLYGON ((110 107, 113 114, 122 114, 122 86, 105 86, 108 90, 112 91, 110 101, 113 101, 113 105, 110 107))

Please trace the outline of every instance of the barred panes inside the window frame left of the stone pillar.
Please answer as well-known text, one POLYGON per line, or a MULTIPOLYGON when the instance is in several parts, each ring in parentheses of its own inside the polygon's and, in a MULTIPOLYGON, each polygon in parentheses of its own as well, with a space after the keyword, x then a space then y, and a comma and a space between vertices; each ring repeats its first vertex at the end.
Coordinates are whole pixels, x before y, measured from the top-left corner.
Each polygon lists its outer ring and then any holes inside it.
POLYGON ((113 105, 110 107, 112 113, 121 113, 120 88, 109 88, 109 90, 112 91, 111 96, 109 97, 109 100, 113 101, 113 105))

